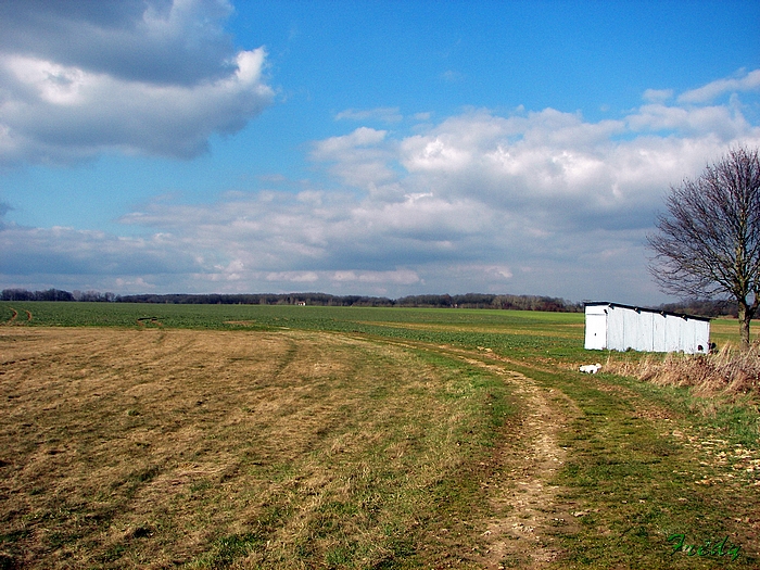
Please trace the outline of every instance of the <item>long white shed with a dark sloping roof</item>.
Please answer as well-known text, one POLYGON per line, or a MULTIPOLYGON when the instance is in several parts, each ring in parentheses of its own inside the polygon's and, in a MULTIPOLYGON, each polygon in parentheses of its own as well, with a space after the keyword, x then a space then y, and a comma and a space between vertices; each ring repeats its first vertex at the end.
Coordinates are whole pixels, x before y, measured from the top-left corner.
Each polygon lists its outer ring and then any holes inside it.
POLYGON ((586 303, 585 349, 707 353, 710 319, 618 303, 586 303))

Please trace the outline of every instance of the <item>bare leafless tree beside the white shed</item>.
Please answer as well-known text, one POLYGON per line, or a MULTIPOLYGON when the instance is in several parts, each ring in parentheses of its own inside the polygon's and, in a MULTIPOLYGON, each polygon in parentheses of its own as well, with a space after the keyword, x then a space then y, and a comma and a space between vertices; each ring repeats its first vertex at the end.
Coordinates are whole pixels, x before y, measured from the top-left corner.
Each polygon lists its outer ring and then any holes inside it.
POLYGON ((742 346, 760 306, 760 160, 738 148, 695 180, 671 187, 649 236, 649 269, 663 291, 737 303, 742 346))

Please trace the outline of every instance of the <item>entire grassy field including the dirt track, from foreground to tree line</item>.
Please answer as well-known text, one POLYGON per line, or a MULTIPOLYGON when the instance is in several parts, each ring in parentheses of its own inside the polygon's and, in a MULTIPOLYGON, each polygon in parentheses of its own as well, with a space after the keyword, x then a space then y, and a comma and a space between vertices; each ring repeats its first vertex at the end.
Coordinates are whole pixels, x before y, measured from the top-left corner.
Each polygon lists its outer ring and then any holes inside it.
POLYGON ((583 315, 0 321, 0 569, 760 566, 757 402, 581 375, 583 315))

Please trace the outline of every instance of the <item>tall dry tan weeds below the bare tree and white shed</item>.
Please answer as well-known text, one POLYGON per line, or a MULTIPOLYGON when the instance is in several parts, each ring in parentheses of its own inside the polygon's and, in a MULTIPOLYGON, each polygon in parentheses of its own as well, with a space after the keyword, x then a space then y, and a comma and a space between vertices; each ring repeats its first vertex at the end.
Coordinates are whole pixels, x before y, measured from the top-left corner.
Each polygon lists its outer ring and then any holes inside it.
POLYGON ((691 387, 696 395, 760 395, 760 344, 739 351, 731 344, 714 354, 684 355, 669 353, 664 357, 646 355, 638 360, 616 360, 610 355, 605 371, 632 376, 657 385, 691 387))

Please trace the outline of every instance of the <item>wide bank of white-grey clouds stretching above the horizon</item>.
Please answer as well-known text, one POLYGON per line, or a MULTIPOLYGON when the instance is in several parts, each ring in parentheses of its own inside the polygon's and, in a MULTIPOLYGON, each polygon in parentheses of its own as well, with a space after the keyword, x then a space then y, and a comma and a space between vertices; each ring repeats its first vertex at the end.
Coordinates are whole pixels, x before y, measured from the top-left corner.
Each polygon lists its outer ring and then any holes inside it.
POLYGON ((305 182, 297 194, 155 201, 121 219, 142 239, 7 226, 0 239, 16 251, 0 266, 41 271, 41 255, 54 252, 64 268, 79 240, 92 245, 77 267, 102 261, 122 282, 155 288, 165 263, 186 291, 427 289, 642 303, 661 299, 642 276, 668 187, 737 144, 760 144, 742 105, 675 94, 645 94, 600 122, 517 109, 468 110, 407 134, 363 126, 311 147, 313 166, 341 190, 305 182))

